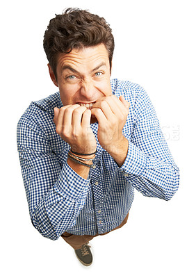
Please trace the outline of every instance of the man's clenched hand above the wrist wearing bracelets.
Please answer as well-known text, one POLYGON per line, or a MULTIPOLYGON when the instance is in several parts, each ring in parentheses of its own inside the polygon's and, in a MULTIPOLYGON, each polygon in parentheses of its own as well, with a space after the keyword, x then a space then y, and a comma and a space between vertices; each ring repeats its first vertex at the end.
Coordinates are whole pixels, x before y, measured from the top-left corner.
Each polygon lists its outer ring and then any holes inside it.
POLYGON ((90 154, 96 151, 95 135, 90 128, 90 110, 79 104, 54 108, 56 133, 74 152, 90 154))

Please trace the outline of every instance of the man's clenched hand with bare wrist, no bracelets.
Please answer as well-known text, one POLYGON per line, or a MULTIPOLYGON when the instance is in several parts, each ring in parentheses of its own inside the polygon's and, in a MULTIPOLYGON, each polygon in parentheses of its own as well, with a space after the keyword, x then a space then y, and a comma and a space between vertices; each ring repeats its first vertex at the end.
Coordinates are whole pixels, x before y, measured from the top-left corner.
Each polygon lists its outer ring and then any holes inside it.
POLYGON ((91 113, 99 122, 97 137, 101 147, 108 153, 111 149, 118 148, 124 142, 122 129, 129 113, 129 102, 115 95, 101 97, 92 106, 91 113))

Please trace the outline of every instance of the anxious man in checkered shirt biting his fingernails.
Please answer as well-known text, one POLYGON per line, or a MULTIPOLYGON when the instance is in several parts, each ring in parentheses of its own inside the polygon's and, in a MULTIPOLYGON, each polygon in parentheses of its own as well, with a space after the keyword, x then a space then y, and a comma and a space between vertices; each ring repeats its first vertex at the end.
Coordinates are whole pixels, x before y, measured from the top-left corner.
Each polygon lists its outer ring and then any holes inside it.
POLYGON ((84 265, 89 240, 122 227, 134 188, 169 200, 179 170, 145 90, 111 80, 114 40, 104 18, 67 9, 44 34, 59 92, 34 101, 17 125, 33 226, 60 236, 84 265))

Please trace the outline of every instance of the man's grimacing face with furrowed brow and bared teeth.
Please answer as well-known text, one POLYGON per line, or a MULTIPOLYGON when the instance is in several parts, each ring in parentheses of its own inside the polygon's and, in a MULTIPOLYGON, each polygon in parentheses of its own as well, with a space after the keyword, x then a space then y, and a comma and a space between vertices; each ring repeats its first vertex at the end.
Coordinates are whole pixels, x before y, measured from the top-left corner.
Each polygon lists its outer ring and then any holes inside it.
POLYGON ((111 95, 111 69, 104 44, 59 54, 57 81, 50 66, 49 72, 59 88, 63 106, 80 104, 89 108, 100 97, 111 95))

